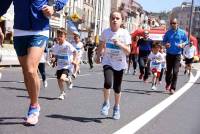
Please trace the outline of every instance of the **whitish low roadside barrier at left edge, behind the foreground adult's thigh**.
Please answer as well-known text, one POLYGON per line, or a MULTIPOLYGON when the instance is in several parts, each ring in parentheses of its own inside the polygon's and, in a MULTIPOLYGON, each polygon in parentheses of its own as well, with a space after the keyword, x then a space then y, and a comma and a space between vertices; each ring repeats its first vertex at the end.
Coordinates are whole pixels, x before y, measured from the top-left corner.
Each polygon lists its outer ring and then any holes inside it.
POLYGON ((19 65, 13 44, 3 44, 3 48, 0 48, 0 54, 2 54, 0 66, 19 65))

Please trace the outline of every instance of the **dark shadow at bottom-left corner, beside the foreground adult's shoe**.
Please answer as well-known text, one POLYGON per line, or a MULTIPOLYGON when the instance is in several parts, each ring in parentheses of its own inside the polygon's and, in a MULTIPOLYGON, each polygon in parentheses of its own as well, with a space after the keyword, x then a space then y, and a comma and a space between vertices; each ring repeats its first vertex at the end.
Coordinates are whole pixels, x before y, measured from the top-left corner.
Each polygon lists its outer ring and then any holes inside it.
POLYGON ((0 125, 17 125, 24 124, 24 117, 0 117, 0 125), (23 121, 16 121, 23 120, 23 121))

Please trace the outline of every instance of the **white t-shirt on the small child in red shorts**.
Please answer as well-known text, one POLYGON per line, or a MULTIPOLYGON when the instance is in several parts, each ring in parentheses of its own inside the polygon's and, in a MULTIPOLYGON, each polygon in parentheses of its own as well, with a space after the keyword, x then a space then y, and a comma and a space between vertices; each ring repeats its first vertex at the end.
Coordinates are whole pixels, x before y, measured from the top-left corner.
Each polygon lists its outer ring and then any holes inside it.
POLYGON ((164 61, 162 54, 160 52, 157 54, 151 52, 148 59, 150 60, 150 69, 157 69, 160 72, 164 61))

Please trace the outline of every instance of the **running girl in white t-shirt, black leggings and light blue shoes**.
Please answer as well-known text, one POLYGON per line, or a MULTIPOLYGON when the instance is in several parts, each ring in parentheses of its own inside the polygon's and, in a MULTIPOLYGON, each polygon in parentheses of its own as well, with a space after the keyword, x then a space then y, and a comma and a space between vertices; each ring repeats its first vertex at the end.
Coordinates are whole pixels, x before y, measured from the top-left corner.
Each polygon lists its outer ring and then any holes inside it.
POLYGON ((101 114, 107 116, 110 108, 110 88, 115 92, 113 119, 120 119, 121 83, 124 69, 127 68, 126 55, 130 53, 131 36, 126 29, 120 28, 122 15, 118 11, 110 14, 110 28, 105 29, 97 48, 96 63, 101 56, 104 71, 104 103, 101 114))

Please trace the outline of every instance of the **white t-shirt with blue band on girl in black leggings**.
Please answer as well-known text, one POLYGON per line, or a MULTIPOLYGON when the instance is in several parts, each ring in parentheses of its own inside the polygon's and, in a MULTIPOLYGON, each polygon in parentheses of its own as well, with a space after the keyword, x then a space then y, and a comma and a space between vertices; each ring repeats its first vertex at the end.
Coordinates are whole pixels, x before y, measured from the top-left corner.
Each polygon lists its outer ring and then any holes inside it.
POLYGON ((127 68, 127 62, 125 52, 112 41, 116 38, 124 45, 131 44, 131 36, 126 29, 120 28, 117 32, 112 32, 110 28, 105 29, 100 37, 100 40, 106 43, 102 64, 119 71, 127 68))

